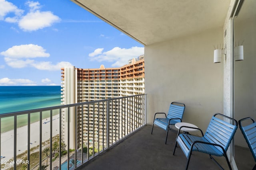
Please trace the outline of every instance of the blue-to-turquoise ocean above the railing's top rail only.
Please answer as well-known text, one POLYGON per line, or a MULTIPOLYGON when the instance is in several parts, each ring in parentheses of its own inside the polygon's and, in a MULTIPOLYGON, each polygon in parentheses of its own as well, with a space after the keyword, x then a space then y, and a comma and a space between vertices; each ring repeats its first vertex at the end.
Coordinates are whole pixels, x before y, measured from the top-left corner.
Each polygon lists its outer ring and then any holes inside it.
POLYGON ((0 114, 60 106, 60 86, 0 86, 0 114))

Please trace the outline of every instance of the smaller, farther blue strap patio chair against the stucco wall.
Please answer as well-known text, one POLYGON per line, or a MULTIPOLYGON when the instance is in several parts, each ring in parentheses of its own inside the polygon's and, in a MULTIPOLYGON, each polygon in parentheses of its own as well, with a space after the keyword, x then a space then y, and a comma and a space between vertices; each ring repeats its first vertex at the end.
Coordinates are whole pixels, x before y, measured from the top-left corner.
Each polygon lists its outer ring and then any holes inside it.
POLYGON ((170 125, 175 125, 175 123, 182 121, 184 110, 185 110, 185 104, 172 102, 170 104, 167 116, 166 116, 166 113, 155 113, 151 134, 153 133, 154 125, 157 125, 158 127, 164 129, 166 131, 166 139, 165 139, 165 144, 166 144, 170 125), (165 118, 156 118, 157 114, 164 114, 165 118))

